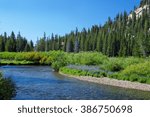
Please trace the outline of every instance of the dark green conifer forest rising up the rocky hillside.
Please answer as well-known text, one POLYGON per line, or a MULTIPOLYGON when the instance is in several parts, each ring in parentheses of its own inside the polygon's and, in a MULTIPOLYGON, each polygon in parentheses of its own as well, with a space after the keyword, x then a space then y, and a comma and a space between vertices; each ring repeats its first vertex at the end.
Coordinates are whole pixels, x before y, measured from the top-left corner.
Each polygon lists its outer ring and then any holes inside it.
MULTIPOLYGON (((64 36, 52 34, 37 40, 35 51, 63 50, 66 52, 98 51, 108 56, 150 55, 150 0, 142 0, 137 9, 110 17, 106 23, 94 25, 81 32, 71 31, 64 36), (146 6, 146 7, 145 7, 146 6), (142 9, 144 7, 144 9, 142 9), (137 17, 136 10, 142 9, 137 17), (132 17, 129 17, 131 16, 132 17)), ((25 38, 0 36, 0 51, 32 51, 33 42, 25 38)))

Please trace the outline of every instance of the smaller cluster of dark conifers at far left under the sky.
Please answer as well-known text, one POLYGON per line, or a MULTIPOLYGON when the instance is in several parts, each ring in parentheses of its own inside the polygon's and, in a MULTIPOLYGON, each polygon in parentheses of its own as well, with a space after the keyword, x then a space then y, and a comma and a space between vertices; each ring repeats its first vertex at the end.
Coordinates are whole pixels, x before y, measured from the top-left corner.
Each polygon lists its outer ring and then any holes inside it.
POLYGON ((20 32, 17 36, 15 36, 13 31, 10 36, 7 36, 6 32, 0 35, 0 52, 29 52, 33 50, 34 45, 32 40, 28 42, 25 37, 21 36, 20 32))

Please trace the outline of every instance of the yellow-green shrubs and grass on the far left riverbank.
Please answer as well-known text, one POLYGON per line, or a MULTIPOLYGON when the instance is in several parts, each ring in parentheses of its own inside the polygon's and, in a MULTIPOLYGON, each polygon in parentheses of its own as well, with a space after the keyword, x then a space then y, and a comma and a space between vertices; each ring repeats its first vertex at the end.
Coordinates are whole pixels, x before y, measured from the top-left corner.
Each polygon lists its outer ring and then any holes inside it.
POLYGON ((51 64, 52 58, 46 52, 0 52, 0 64, 51 64))

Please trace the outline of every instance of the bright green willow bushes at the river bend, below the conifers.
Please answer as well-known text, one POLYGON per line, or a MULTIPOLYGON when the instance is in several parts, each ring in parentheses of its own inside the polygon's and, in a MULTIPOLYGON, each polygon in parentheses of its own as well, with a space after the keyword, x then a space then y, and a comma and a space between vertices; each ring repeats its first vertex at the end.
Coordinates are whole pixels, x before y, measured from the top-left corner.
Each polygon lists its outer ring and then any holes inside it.
POLYGON ((55 68, 56 71, 68 64, 100 65, 108 60, 106 56, 98 52, 81 52, 75 54, 52 51, 49 52, 49 55, 53 58, 52 67, 55 68))

